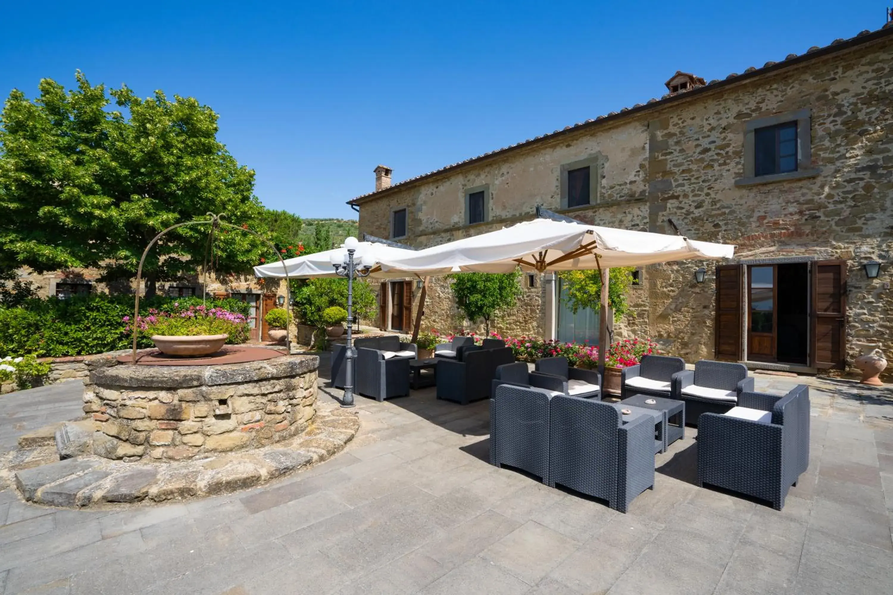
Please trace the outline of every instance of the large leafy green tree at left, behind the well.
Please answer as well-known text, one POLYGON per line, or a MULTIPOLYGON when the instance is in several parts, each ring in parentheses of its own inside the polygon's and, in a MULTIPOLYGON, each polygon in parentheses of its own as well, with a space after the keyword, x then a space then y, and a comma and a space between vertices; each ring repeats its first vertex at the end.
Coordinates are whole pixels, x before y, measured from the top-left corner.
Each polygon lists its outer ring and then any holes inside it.
MULTIPOLYGON (((13 90, 0 115, 0 269, 100 267, 103 280, 129 278, 165 227, 209 211, 255 222, 262 208, 255 172, 217 140, 210 107, 161 91, 143 100, 126 86, 107 94, 76 77, 67 92, 42 79, 33 102, 13 90), (108 95, 120 110, 106 109, 108 95)), ((144 265, 146 293, 195 273, 208 234, 189 226, 164 236, 144 265)), ((222 275, 244 272, 266 252, 254 236, 223 229, 213 266, 222 275)))

